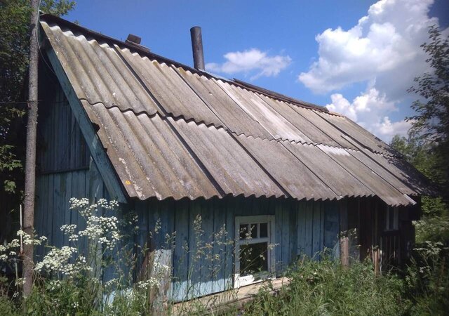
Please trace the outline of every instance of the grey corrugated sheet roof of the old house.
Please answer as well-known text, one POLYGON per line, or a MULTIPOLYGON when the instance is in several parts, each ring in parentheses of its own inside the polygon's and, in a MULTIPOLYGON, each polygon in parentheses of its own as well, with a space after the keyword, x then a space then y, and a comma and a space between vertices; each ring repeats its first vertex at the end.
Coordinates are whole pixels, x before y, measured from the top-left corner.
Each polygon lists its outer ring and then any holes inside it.
POLYGON ((346 117, 43 15, 129 197, 243 195, 413 204, 427 180, 346 117))

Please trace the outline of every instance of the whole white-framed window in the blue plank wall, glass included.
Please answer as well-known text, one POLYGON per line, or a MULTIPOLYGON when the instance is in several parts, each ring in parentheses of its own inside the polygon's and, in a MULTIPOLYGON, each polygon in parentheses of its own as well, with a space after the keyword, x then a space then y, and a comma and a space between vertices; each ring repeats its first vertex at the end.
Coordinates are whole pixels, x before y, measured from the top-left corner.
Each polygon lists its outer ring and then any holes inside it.
POLYGON ((234 287, 274 275, 274 216, 236 217, 234 287))

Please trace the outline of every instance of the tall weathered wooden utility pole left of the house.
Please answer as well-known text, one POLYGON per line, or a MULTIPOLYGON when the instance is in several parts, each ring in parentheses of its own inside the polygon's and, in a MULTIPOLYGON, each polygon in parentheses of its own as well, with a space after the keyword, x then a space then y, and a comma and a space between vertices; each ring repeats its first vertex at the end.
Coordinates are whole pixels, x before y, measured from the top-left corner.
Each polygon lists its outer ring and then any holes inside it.
MULTIPOLYGON (((32 7, 29 21, 29 68, 28 68, 28 121, 27 121, 27 150, 25 157, 25 212, 23 226, 25 232, 34 235, 34 190, 36 186, 36 127, 37 127, 37 64, 38 39, 37 20, 39 17, 39 0, 30 0, 32 7)), ((24 296, 29 296, 33 287, 33 245, 24 245, 23 256, 23 284, 24 296)))

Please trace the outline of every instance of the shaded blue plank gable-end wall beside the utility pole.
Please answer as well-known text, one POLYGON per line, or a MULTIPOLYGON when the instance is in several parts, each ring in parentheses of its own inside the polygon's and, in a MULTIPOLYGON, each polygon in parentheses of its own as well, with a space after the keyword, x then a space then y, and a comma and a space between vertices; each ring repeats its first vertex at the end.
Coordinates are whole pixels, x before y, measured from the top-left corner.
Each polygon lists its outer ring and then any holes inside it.
MULTIPOLYGON (((78 213, 69 210, 69 199, 94 201, 108 195, 64 93, 59 86, 51 87, 39 104, 34 228, 49 244, 62 246, 68 244, 62 225, 76 224, 81 229, 85 225, 78 213)), ((38 249, 36 256, 43 250, 38 249)))

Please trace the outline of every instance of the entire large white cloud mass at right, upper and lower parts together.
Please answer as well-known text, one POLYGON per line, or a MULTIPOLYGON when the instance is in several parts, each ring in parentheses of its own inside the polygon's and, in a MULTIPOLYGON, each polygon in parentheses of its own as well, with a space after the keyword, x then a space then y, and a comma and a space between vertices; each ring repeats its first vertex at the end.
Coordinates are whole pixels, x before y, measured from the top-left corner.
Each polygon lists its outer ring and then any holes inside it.
POLYGON ((328 108, 387 141, 391 133, 405 133, 410 124, 389 117, 400 110, 413 78, 429 70, 420 45, 428 40, 428 27, 438 25, 428 15, 433 2, 381 0, 351 29, 326 29, 316 36, 318 60, 298 80, 315 93, 366 83, 366 91, 352 102, 334 93, 328 108))

